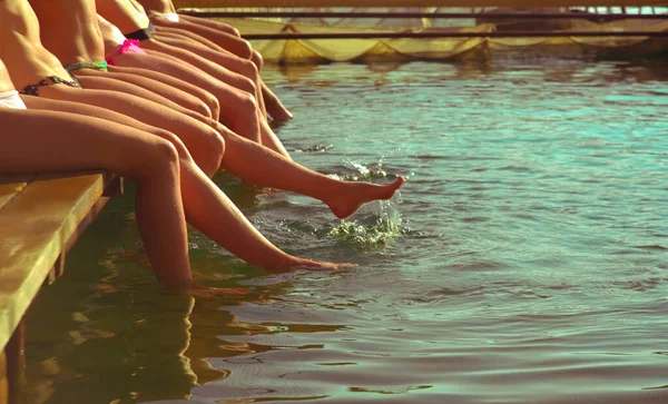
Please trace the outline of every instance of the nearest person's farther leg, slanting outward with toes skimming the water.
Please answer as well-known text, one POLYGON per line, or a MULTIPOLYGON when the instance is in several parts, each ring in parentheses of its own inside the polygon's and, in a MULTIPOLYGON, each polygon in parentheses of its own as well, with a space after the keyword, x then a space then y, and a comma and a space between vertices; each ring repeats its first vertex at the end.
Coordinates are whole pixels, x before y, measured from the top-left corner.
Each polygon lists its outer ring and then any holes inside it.
MULTIPOLYGON (((335 269, 338 267, 336 264, 316 263, 297 258, 274 246, 253 227, 227 196, 195 165, 186 147, 173 134, 151 128, 135 119, 105 110, 104 108, 35 97, 23 98, 29 108, 58 109, 72 114, 99 117, 106 119, 108 124, 115 127, 127 125, 147 130, 155 135, 158 140, 161 140, 159 138, 167 139, 178 152, 180 190, 185 216, 188 223, 247 263, 267 270, 287 270, 295 266, 311 266, 323 269, 335 269)), ((158 204, 165 203, 158 201, 158 204)))

